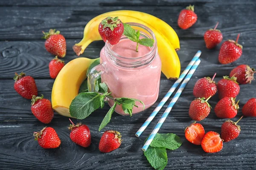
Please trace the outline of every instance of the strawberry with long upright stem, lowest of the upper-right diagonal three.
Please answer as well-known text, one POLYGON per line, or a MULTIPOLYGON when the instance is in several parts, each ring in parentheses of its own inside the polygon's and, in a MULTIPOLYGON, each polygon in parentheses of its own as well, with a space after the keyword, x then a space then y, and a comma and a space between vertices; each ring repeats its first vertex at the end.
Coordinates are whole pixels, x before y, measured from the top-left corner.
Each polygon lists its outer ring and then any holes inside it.
POLYGON ((234 40, 227 40, 221 45, 220 53, 218 55, 218 60, 221 64, 228 64, 236 61, 242 55, 243 46, 238 44, 239 35, 234 40))

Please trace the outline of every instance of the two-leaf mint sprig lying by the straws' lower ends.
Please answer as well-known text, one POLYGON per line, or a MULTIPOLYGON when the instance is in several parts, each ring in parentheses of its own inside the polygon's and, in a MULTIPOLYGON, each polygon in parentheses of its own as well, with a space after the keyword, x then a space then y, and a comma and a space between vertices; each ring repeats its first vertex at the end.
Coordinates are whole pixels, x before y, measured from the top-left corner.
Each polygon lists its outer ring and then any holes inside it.
POLYGON ((173 133, 157 133, 144 155, 154 169, 163 170, 168 161, 166 149, 176 150, 181 144, 180 137, 173 133))

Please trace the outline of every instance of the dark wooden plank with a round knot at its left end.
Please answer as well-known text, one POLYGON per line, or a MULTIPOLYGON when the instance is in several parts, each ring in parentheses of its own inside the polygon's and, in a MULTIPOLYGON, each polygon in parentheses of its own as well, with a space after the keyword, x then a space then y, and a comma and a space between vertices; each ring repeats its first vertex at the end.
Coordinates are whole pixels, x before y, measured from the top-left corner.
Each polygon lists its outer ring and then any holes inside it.
MULTIPOLYGON (((64 58, 66 63, 77 57, 72 46, 78 41, 67 41, 67 56, 64 58)), ((241 64, 248 64, 256 68, 255 59, 252 57, 256 53, 255 41, 241 37, 240 42, 244 45, 241 58, 231 64, 221 65, 218 63, 220 45, 213 50, 208 50, 204 40, 181 40, 181 49, 178 51, 181 70, 186 68, 197 50, 202 51, 202 63, 198 68, 200 77, 212 76, 215 72, 217 72, 217 77, 222 77, 228 75, 235 66, 241 64)), ((81 57, 97 58, 103 46, 103 41, 93 42, 81 57)), ((50 79, 48 64, 53 56, 45 50, 44 41, 0 42, 0 52, 0 79, 12 79, 15 72, 21 71, 35 79, 50 79)), ((164 75, 162 78, 165 79, 164 75)))

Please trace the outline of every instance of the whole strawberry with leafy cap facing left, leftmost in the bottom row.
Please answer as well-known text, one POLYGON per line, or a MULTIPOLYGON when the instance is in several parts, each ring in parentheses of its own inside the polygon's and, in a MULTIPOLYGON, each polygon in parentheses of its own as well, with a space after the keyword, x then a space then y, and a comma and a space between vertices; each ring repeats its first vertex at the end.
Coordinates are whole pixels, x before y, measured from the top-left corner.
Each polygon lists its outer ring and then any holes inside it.
POLYGON ((44 149, 56 148, 61 144, 58 134, 52 127, 44 127, 40 132, 34 132, 33 135, 44 149))

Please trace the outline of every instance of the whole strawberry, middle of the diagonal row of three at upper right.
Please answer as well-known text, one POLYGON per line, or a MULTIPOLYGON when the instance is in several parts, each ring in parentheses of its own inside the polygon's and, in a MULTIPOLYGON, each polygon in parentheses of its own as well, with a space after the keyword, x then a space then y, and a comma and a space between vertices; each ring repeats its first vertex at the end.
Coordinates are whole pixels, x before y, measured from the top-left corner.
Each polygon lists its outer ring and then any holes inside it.
POLYGON ((204 33, 204 42, 206 44, 206 48, 212 49, 217 46, 223 39, 222 33, 220 30, 216 29, 218 26, 218 22, 214 29, 209 29, 204 33))

